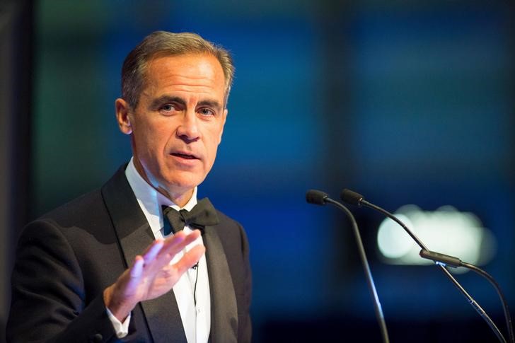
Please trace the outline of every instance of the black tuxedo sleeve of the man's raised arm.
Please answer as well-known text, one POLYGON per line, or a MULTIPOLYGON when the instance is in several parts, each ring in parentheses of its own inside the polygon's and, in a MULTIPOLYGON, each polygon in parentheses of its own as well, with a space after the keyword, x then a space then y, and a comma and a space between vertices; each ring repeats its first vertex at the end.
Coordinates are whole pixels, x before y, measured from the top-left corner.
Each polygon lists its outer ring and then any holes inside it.
POLYGON ((103 294, 86 305, 74 250, 54 223, 30 223, 16 250, 7 342, 112 342, 103 294))

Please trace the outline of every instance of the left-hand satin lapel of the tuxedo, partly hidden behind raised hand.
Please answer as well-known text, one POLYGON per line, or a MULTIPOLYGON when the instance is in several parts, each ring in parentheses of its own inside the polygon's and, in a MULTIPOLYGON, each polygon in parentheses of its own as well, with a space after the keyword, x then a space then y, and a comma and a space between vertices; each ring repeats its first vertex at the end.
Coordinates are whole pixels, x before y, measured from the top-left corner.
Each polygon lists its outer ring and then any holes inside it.
MULTIPOLYGON (((152 243, 154 235, 125 178, 125 166, 104 185, 102 194, 129 266, 152 243)), ((154 342, 186 342, 173 290, 140 306, 154 342)))

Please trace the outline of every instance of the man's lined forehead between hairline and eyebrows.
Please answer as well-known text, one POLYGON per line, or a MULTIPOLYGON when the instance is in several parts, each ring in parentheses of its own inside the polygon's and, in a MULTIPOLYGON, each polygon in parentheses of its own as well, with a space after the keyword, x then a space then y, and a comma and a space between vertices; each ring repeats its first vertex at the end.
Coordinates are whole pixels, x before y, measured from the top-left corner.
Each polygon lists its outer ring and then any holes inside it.
POLYGON ((146 95, 186 92, 224 97, 224 71, 209 54, 180 54, 154 57, 147 64, 146 95))

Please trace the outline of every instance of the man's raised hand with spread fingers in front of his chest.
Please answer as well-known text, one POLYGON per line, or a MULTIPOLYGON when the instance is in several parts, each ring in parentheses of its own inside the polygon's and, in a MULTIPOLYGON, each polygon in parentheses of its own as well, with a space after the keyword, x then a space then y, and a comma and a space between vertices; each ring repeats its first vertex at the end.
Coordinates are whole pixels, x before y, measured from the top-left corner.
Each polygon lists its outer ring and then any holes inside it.
POLYGON ((123 322, 140 301, 150 300, 170 291, 180 277, 198 262, 205 252, 196 245, 174 264, 173 257, 200 236, 179 231, 166 240, 155 240, 145 252, 137 255, 132 266, 120 275, 115 284, 104 291, 104 303, 115 317, 123 322))

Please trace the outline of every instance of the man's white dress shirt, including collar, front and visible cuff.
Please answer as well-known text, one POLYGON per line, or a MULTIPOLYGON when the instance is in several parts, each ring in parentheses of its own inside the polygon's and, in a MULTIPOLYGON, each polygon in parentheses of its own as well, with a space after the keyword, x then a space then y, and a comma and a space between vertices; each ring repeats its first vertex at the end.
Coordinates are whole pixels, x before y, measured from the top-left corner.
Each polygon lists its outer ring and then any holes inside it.
MULTIPOLYGON (((131 158, 129 165, 125 169, 125 176, 129 181, 132 191, 136 195, 139 207, 143 211, 146 221, 149 222, 150 228, 154 233, 154 238, 166 238, 163 236, 163 211, 161 206, 169 206, 179 211, 186 209, 191 211, 197 204, 197 187, 193 191, 191 199, 185 204, 184 207, 178 207, 173 204, 170 199, 158 192, 154 187, 151 187, 134 167, 134 162, 131 158)), ((168 219, 166 219, 168 220, 168 219)), ((190 226, 185 226, 185 233, 192 232, 190 226)), ((187 245, 186 251, 198 244, 203 244, 202 236, 195 242, 187 245)), ((183 252, 175 255, 171 264, 177 262, 183 252)), ((207 277, 207 263, 205 255, 199 260, 197 268, 190 268, 180 277, 177 284, 173 286, 173 293, 179 308, 180 318, 183 321, 184 332, 188 343, 207 342, 209 338, 209 330, 211 328, 211 298, 209 293, 209 279, 207 277), (195 287, 196 282, 196 287, 195 287), (195 300, 196 299, 196 303, 195 300)), ((129 320, 121 323, 114 317, 108 310, 108 315, 111 322, 115 326, 115 331, 119 338, 125 337, 128 333, 129 320)))

